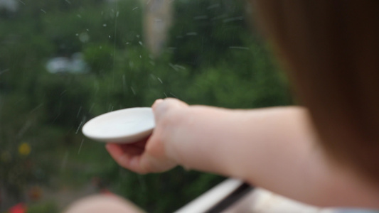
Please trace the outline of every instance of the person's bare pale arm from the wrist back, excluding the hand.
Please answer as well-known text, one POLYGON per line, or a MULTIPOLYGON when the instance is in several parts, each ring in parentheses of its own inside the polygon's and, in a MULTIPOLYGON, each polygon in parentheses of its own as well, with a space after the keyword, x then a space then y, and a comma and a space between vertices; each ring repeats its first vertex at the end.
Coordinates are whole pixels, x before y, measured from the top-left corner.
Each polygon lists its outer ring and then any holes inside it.
POLYGON ((372 206, 356 193, 378 196, 326 161, 305 109, 189 107, 184 113, 167 148, 186 168, 242 178, 311 204, 372 206))

